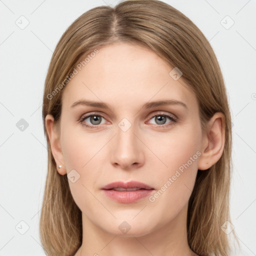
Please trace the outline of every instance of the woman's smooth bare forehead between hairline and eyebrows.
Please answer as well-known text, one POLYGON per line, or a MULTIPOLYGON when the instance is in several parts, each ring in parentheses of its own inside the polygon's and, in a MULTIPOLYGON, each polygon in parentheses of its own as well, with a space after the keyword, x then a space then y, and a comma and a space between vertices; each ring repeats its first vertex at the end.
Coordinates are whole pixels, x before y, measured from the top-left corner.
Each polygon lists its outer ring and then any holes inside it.
POLYGON ((188 106, 196 97, 181 79, 174 80, 169 66, 152 50, 138 44, 115 42, 97 48, 89 62, 76 68, 77 74, 63 91, 63 105, 82 98, 112 105, 140 105, 157 99, 176 99, 188 106), (143 102, 141 102, 143 101, 143 102))

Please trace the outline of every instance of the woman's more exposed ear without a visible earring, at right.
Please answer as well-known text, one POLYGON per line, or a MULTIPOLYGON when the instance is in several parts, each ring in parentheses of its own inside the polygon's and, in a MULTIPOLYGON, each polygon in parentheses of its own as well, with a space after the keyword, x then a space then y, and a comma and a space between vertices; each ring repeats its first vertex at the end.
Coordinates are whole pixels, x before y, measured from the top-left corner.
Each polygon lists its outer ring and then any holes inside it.
POLYGON ((216 163, 223 153, 224 143, 225 116, 221 112, 216 112, 208 121, 203 134, 198 169, 205 170, 216 163))

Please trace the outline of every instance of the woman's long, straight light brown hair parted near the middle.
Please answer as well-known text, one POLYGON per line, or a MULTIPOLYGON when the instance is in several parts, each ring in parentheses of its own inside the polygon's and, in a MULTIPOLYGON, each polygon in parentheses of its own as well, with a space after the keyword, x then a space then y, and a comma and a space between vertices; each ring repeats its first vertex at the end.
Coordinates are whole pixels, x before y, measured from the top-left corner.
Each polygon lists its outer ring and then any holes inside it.
POLYGON ((203 129, 215 112, 224 114, 223 154, 208 170, 198 170, 188 203, 187 238, 197 254, 227 256, 230 235, 221 230, 221 225, 230 221, 231 118, 222 74, 202 32, 180 11, 159 0, 126 0, 115 7, 94 7, 70 25, 56 45, 45 79, 42 109, 48 172, 40 238, 46 254, 73 255, 82 242, 82 225, 81 211, 72 198, 66 175, 56 170, 45 116, 52 114, 59 129, 61 95, 74 67, 86 54, 114 41, 142 44, 170 67, 178 67, 181 81, 197 97, 203 129))

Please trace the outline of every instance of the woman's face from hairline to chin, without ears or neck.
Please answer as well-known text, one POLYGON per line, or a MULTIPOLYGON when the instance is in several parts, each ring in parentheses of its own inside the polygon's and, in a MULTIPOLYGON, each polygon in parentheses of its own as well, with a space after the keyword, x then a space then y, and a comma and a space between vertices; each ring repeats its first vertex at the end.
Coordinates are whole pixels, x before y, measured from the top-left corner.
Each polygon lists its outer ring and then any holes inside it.
POLYGON ((97 49, 64 88, 60 120, 59 158, 83 222, 124 236, 184 222, 203 146, 195 94, 147 48, 97 49), (146 187, 106 187, 118 181, 146 187))

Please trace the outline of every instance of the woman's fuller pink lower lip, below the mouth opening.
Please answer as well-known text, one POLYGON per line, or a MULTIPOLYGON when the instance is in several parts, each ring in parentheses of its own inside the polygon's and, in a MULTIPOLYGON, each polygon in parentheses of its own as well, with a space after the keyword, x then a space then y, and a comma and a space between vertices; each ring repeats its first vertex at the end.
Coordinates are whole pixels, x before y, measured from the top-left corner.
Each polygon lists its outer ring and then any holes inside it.
POLYGON ((104 193, 115 201, 130 203, 135 202, 145 196, 149 196, 154 189, 139 189, 134 191, 116 191, 113 189, 103 189, 104 193))

